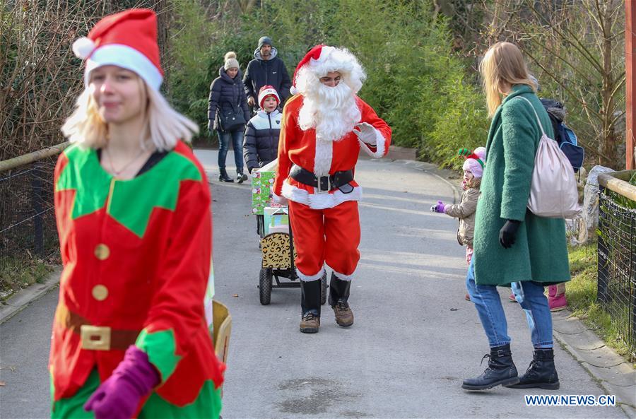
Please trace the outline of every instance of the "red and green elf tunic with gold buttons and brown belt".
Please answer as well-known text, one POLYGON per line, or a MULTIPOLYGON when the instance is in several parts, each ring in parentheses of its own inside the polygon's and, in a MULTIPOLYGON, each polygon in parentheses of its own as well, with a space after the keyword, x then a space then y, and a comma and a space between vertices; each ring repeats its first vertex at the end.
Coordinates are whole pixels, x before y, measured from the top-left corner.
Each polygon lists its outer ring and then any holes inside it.
POLYGON ((107 379, 130 344, 160 373, 150 401, 186 406, 218 388, 225 365, 204 314, 211 198, 189 147, 179 141, 151 169, 121 180, 95 150, 70 146, 54 188, 64 271, 49 360, 53 402, 76 394, 93 370, 107 379), (105 347, 91 348, 93 326, 107 330, 97 337, 105 347))

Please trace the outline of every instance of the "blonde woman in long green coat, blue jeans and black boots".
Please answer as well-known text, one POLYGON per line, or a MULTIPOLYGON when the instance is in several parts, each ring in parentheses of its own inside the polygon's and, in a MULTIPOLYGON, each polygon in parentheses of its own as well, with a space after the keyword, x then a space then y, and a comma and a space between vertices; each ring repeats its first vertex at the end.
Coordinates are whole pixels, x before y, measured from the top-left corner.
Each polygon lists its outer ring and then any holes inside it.
POLYGON ((541 126, 553 138, 552 124, 515 45, 497 42, 490 47, 480 71, 493 121, 466 288, 488 336, 490 360, 483 374, 464 380, 462 387, 558 389, 552 317, 543 287, 570 281, 565 221, 541 218, 526 208, 541 126), (506 317, 497 293, 497 286, 511 285, 526 312, 534 345, 534 360, 522 377, 517 376, 512 362, 506 317))

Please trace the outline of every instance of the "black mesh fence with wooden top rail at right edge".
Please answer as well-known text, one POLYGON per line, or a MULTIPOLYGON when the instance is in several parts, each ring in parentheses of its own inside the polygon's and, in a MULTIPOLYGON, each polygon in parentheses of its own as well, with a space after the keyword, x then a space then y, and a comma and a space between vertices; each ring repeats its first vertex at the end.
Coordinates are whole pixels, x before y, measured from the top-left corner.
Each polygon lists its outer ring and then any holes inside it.
POLYGON ((636 170, 599 175, 596 299, 636 359, 636 170))

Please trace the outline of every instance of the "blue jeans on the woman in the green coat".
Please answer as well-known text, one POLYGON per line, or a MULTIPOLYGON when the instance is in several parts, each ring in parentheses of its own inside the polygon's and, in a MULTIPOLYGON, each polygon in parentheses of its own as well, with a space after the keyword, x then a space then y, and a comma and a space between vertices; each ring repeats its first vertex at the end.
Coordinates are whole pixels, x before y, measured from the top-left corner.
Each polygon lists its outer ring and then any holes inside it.
MULTIPOLYGON (((497 287, 475 283, 474 260, 471 260, 466 274, 466 289, 475 304, 490 348, 506 345, 510 343, 510 336, 497 287)), ((552 348, 552 314, 548 307, 548 298, 543 294, 543 285, 532 281, 515 282, 512 283, 512 292, 526 312, 534 348, 552 348)))

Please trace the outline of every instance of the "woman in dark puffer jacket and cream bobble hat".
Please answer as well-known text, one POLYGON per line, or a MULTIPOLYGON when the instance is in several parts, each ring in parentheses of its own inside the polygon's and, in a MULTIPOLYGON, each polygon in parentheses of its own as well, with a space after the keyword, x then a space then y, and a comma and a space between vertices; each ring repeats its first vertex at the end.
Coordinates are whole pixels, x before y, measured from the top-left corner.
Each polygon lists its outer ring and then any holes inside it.
MULTIPOLYGON (((230 140, 234 149, 236 164, 236 179, 242 183, 247 180, 243 173, 243 131, 249 120, 247 97, 243 88, 241 71, 234 52, 225 54, 225 64, 218 70, 218 77, 210 85, 208 99, 208 129, 216 130, 218 134, 218 179, 220 182, 234 182, 225 170, 225 158, 230 148, 230 140), (226 116, 237 119, 243 118, 242 124, 237 126, 223 126, 226 116)), ((227 125, 227 124, 226 124, 227 125)))

